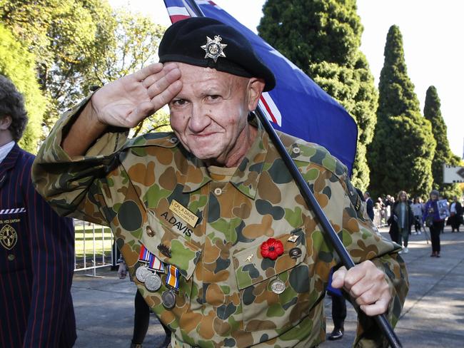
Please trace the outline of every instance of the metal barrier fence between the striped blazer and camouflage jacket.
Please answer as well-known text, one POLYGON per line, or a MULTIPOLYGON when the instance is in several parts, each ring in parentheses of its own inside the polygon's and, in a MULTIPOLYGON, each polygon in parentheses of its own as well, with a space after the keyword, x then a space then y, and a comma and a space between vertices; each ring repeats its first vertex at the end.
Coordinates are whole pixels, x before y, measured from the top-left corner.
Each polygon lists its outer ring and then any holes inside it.
POLYGON ((74 271, 91 270, 96 277, 96 269, 116 266, 118 249, 109 227, 95 225, 74 219, 74 271))

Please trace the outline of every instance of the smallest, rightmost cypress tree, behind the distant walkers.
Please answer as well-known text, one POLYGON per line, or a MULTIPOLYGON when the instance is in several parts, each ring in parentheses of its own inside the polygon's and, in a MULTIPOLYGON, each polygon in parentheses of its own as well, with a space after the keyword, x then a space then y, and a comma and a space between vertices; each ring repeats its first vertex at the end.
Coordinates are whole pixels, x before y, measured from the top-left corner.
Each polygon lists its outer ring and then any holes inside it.
POLYGON ((432 161, 433 188, 443 193, 445 198, 453 198, 453 195, 460 195, 460 188, 457 184, 443 183, 443 164, 460 165, 460 158, 450 150, 447 128, 441 116, 440 106, 437 89, 430 86, 425 93, 424 116, 432 124, 433 138, 437 142, 432 161))

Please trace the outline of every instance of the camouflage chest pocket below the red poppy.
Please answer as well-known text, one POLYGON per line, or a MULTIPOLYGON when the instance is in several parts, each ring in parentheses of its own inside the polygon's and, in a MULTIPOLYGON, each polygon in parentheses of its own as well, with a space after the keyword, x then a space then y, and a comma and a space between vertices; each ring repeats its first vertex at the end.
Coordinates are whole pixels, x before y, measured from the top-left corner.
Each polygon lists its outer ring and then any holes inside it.
POLYGON ((243 329, 263 331, 272 339, 278 332, 295 326, 309 312, 309 275, 303 231, 297 242, 290 242, 290 233, 275 237, 283 243, 283 255, 276 260, 261 256, 261 244, 248 247, 233 255, 238 290, 242 306, 243 329), (298 248, 301 254, 292 258, 289 252, 298 248), (285 290, 278 294, 272 285, 280 280, 285 290), (276 329, 271 335, 270 329, 276 329))

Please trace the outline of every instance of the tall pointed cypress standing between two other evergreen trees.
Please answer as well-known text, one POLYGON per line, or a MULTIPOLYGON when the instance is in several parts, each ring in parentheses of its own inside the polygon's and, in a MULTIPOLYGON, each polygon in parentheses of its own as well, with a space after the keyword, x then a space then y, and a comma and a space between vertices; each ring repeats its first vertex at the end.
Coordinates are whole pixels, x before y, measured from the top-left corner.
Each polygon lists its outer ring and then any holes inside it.
POLYGON ((368 152, 371 191, 374 195, 395 195, 399 190, 428 195, 435 140, 430 122, 420 115, 398 26, 388 31, 384 56, 377 125, 368 152))

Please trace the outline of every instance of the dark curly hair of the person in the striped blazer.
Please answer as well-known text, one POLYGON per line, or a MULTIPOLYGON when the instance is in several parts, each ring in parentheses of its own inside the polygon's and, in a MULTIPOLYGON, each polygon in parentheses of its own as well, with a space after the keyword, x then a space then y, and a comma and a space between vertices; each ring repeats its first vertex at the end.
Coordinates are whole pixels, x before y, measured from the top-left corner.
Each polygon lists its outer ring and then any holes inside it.
POLYGON ((9 78, 0 74, 0 117, 5 116, 11 117, 9 131, 14 141, 19 141, 28 121, 24 98, 9 78))

